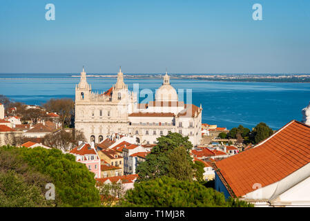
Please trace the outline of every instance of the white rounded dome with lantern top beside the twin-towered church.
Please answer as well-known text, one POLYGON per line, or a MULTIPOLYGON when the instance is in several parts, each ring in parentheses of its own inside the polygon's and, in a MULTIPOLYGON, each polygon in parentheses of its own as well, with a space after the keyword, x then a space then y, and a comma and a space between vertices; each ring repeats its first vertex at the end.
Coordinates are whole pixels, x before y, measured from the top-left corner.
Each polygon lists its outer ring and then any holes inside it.
POLYGON ((177 102, 177 90, 170 85, 170 78, 164 76, 164 83, 160 86, 155 93, 155 102, 177 102))

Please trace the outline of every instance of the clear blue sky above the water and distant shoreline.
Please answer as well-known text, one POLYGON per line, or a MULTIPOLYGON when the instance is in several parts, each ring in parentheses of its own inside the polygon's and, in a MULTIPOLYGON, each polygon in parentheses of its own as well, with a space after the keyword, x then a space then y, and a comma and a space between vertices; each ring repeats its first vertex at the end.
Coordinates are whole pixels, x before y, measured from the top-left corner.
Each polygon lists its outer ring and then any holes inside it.
POLYGON ((0 28, 0 73, 310 73, 307 0, 10 0, 0 28))

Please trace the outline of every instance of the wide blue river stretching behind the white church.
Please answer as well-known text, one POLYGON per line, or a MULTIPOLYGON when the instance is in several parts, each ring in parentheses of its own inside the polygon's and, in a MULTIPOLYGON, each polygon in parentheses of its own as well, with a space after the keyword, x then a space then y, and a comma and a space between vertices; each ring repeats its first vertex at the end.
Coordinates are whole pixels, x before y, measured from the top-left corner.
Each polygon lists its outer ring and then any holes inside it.
MULTIPOLYGON (((17 102, 42 104, 50 98, 75 97, 79 78, 72 74, 0 74, 0 94, 17 102)), ((77 74, 74 74, 77 75, 77 74)), ((95 91, 108 90, 116 78, 88 78, 95 91)), ((128 88, 139 83, 139 89, 157 89, 161 79, 125 79, 128 88)), ((252 128, 265 122, 278 129, 291 119, 301 120, 301 109, 309 104, 310 84, 217 82, 171 79, 178 89, 192 89, 193 104, 202 104, 202 122, 233 128, 242 124, 252 128)), ((140 97, 140 102, 143 100, 140 97)), ((182 97, 181 97, 182 99, 182 97)), ((186 100, 186 99, 184 99, 186 100)))

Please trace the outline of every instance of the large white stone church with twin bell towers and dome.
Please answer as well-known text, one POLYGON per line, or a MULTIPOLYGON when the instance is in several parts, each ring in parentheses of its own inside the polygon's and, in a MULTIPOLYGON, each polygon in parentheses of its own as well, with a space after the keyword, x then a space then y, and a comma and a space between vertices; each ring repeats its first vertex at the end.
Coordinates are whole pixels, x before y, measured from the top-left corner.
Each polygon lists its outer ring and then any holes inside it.
POLYGON ((155 144, 168 131, 188 136, 193 146, 202 139, 202 106, 179 102, 177 91, 166 73, 155 93, 155 101, 139 104, 128 90, 119 68, 117 82, 104 93, 94 93, 83 69, 75 87, 75 128, 86 142, 99 143, 115 134, 136 137, 139 144, 155 144))

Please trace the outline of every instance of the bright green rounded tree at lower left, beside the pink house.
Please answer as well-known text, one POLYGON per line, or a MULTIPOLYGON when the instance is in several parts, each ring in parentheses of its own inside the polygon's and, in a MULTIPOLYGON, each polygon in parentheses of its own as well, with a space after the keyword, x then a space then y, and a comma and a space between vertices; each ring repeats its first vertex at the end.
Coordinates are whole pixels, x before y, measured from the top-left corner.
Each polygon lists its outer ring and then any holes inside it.
POLYGON ((99 206, 95 174, 85 164, 75 162, 73 155, 41 147, 19 148, 19 154, 29 166, 51 177, 61 200, 57 206, 99 206))

